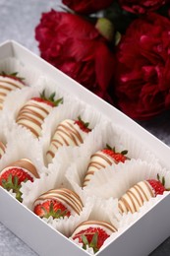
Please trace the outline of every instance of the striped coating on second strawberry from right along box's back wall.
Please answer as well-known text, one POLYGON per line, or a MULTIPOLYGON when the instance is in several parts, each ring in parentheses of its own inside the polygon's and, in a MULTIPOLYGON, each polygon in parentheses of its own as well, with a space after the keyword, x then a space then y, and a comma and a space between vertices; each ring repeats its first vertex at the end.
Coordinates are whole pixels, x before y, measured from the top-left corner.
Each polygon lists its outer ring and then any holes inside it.
POLYGON ((110 156, 104 154, 102 151, 98 151, 95 154, 93 154, 87 166, 83 186, 85 187, 88 184, 94 172, 98 171, 101 168, 105 168, 109 165, 112 165, 114 163, 117 163, 117 161, 112 159, 110 156))

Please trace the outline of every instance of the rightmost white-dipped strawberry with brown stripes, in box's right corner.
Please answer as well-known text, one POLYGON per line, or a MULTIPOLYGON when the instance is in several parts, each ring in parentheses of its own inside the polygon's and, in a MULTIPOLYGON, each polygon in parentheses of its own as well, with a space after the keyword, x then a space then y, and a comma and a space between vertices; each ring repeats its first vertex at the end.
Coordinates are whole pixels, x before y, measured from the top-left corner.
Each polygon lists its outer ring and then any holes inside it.
POLYGON ((144 202, 162 195, 164 191, 164 179, 162 182, 156 179, 140 181, 119 199, 119 211, 121 214, 128 212, 134 214, 140 210, 144 202))

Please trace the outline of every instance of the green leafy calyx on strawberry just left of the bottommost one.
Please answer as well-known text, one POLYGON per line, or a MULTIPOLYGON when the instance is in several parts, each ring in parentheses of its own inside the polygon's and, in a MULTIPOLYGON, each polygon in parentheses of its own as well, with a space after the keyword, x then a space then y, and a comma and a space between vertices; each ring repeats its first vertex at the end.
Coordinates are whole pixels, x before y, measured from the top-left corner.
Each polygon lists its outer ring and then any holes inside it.
POLYGON ((48 219, 49 217, 52 217, 53 219, 60 219, 60 218, 64 219, 64 217, 68 213, 67 210, 61 211, 61 209, 54 211, 52 202, 50 203, 49 211, 47 211, 43 206, 41 207, 41 209, 44 211, 44 215, 42 216, 42 218, 46 218, 46 219, 48 219))

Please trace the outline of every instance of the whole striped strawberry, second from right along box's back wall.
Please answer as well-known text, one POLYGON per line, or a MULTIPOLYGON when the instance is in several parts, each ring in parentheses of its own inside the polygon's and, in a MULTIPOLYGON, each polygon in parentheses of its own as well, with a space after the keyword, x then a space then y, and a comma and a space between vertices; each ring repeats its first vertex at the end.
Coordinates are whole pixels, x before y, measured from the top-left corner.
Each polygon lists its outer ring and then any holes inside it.
POLYGON ((126 157, 127 153, 128 151, 122 151, 121 153, 118 153, 115 151, 115 148, 112 149, 108 145, 106 145, 105 149, 94 153, 90 157, 83 186, 85 187, 88 184, 95 171, 98 171, 99 169, 105 168, 109 165, 125 162, 128 160, 128 157, 126 157))

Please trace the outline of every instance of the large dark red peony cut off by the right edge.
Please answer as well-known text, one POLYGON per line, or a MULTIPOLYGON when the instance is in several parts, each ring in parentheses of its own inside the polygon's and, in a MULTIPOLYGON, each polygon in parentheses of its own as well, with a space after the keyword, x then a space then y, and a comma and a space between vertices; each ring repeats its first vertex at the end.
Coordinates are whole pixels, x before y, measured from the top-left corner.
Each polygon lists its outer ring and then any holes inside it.
POLYGON ((119 107, 147 119, 170 108, 170 21, 149 14, 134 21, 118 50, 119 107))

